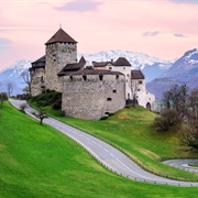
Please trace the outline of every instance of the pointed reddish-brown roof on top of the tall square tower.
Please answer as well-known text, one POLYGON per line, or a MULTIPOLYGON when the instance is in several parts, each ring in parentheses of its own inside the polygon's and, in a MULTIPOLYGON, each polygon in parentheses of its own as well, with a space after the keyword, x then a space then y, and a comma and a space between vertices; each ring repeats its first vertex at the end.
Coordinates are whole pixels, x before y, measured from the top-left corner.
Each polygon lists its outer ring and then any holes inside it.
POLYGON ((63 29, 59 29, 46 43, 52 44, 52 43, 77 43, 72 36, 69 36, 63 29))

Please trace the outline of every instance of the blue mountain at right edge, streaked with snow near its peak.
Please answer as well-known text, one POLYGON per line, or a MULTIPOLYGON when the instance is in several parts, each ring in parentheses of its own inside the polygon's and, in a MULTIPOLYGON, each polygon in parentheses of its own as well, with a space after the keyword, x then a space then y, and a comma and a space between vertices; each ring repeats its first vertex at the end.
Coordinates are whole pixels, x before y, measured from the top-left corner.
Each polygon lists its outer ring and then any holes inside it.
POLYGON ((190 90, 198 88, 198 48, 187 51, 168 70, 146 84, 146 88, 161 99, 175 84, 186 84, 190 90))

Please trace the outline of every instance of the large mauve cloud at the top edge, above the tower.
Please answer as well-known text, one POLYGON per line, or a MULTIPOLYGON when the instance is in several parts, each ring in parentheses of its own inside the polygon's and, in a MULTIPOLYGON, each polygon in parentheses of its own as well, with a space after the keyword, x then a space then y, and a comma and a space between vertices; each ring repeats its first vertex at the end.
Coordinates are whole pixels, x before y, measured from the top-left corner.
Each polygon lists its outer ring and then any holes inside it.
POLYGON ((86 11, 94 11, 97 10, 98 6, 102 4, 102 2, 95 2, 92 0, 73 0, 66 3, 63 7, 56 7, 56 10, 61 11, 78 11, 78 12, 86 12, 86 11))

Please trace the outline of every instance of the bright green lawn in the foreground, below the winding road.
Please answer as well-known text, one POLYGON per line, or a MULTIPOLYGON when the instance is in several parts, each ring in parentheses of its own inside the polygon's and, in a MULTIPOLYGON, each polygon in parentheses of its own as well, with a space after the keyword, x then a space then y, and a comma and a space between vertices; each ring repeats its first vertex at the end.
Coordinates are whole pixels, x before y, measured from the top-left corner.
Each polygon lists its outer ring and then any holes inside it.
POLYGON ((197 197, 197 187, 122 178, 67 136, 9 103, 0 114, 0 197, 197 197))

